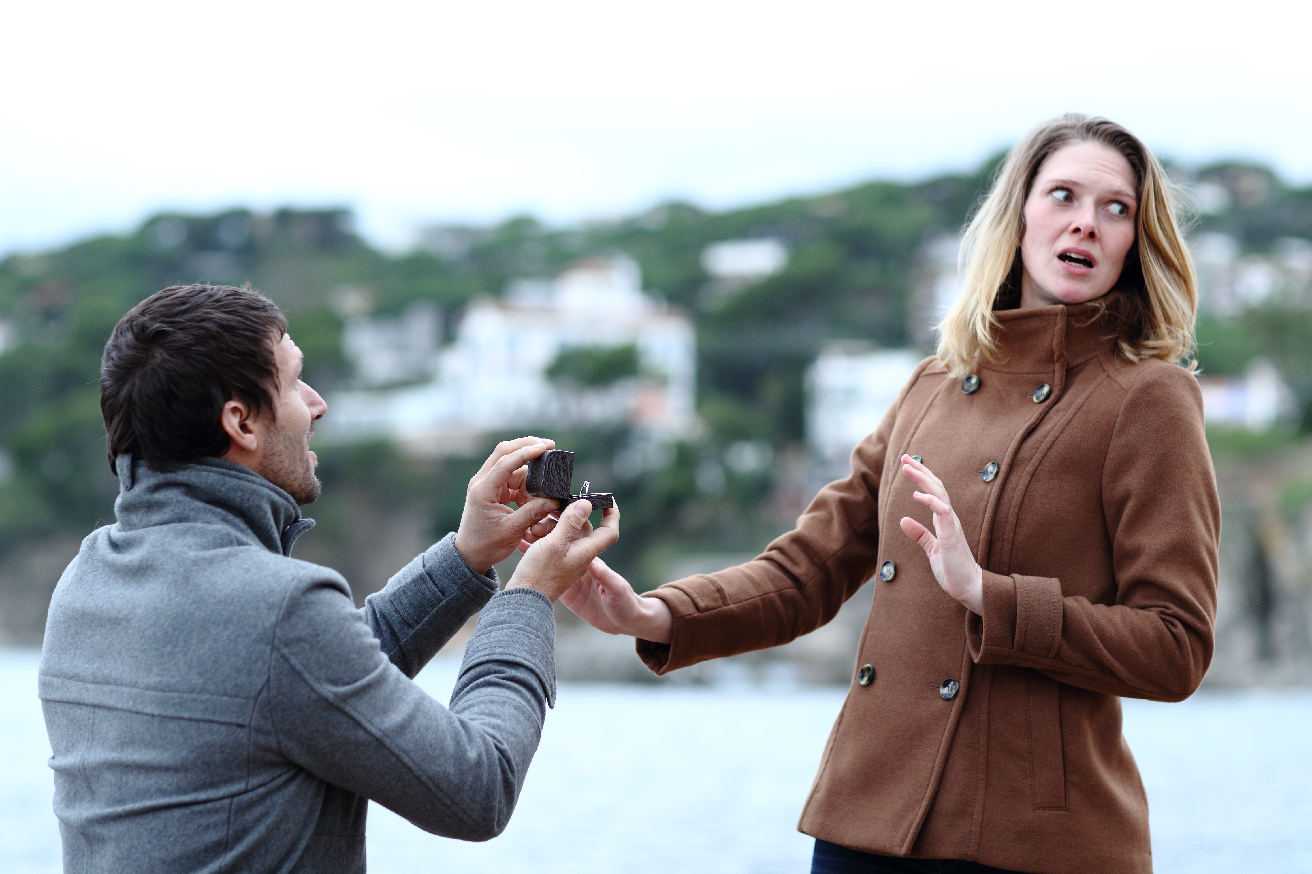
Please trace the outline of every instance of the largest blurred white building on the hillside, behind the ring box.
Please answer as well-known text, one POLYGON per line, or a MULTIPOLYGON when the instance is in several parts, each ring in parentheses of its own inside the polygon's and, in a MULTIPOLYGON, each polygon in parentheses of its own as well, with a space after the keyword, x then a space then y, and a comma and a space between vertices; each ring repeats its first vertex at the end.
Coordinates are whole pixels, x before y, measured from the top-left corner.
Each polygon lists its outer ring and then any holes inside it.
MULTIPOLYGON (((356 334, 348 322, 345 342, 371 358, 358 364, 361 381, 417 367, 422 318, 407 313, 356 334), (415 342, 401 347, 404 338, 415 342)), ((436 335, 432 328, 425 337, 436 335)), ((579 261, 555 279, 475 299, 455 341, 428 366, 432 377, 419 385, 335 393, 324 436, 391 439, 440 456, 499 431, 630 426, 659 443, 697 427, 693 322, 643 292, 626 256, 579 261)))

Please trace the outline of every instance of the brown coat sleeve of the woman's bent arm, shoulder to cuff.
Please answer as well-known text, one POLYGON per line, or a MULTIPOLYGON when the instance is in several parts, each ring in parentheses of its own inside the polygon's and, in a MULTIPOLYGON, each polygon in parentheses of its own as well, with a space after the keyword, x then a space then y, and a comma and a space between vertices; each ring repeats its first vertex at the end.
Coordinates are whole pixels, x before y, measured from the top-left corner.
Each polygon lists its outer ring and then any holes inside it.
MULTIPOLYGON (((1212 658, 1220 501, 1198 380, 1160 367, 1130 385, 1102 470, 1115 601, 1061 580, 984 573, 967 639, 980 664, 1038 668, 1094 692, 1189 697, 1212 658)), ((1078 560, 1073 557, 1073 560, 1078 560)))

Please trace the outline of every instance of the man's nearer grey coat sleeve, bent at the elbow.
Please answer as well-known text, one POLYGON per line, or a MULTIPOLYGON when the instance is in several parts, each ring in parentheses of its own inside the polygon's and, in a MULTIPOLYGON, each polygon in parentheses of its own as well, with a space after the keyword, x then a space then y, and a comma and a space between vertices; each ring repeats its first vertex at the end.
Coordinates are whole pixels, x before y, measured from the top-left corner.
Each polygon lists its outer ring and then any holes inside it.
POLYGON ((425 831, 495 837, 555 701, 554 647, 544 596, 526 588, 496 595, 447 709, 383 655, 337 582, 303 586, 274 636, 268 708, 277 748, 425 831))

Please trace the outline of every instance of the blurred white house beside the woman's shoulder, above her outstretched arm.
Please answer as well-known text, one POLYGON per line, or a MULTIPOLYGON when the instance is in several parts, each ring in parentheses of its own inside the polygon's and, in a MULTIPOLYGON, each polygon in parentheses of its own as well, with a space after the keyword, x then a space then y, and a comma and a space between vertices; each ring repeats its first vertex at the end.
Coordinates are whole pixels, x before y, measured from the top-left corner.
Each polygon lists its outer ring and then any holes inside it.
POLYGON ((909 349, 874 350, 850 341, 821 350, 806 373, 807 446, 819 478, 846 474, 851 451, 879 426, 921 358, 909 349))

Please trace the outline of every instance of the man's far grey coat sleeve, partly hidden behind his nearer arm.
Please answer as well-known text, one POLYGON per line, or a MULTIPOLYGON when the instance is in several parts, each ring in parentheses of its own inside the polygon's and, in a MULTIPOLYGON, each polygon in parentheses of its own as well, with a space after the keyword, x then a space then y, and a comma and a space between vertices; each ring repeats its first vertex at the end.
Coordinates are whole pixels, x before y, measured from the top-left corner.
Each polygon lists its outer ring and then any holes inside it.
POLYGON ((361 615, 383 654, 413 677, 497 588, 496 569, 470 567, 450 533, 366 598, 361 615))

